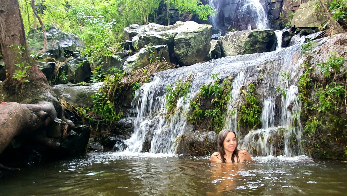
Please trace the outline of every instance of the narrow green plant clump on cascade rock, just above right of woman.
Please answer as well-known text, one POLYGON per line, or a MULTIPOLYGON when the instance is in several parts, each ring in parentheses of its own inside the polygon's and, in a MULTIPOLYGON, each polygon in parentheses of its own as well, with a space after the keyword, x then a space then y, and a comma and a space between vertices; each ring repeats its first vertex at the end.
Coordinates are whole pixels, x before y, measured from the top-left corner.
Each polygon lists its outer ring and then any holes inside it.
POLYGON ((253 126, 260 123, 261 109, 255 94, 255 85, 250 84, 243 92, 243 102, 238 116, 239 126, 253 126))

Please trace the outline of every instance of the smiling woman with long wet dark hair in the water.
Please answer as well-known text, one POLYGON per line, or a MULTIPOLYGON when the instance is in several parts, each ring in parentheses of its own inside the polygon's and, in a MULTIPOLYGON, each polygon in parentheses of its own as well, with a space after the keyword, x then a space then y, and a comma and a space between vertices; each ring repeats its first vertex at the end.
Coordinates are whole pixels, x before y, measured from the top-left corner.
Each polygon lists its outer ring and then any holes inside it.
POLYGON ((219 132, 218 152, 213 153, 210 160, 222 163, 253 161, 247 150, 237 149, 236 134, 229 129, 219 132))

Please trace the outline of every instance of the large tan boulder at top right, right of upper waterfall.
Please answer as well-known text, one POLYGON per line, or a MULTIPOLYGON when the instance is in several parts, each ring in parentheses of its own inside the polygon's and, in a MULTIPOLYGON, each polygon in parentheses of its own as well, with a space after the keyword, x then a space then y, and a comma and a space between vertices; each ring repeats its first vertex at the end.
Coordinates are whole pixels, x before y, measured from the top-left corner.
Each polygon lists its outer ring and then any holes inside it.
POLYGON ((296 28, 324 26, 328 22, 328 18, 324 14, 319 14, 322 13, 321 9, 316 8, 316 1, 302 3, 291 20, 291 26, 296 28))

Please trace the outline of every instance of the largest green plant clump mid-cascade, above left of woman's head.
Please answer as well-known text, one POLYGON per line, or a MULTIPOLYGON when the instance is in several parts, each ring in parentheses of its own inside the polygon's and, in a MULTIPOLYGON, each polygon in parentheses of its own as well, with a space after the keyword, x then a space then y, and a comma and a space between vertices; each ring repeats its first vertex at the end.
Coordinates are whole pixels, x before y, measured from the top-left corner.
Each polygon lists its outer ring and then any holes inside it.
POLYGON ((187 120, 195 124, 207 124, 207 129, 219 133, 224 128, 224 113, 230 100, 232 77, 225 79, 222 84, 218 74, 212 74, 211 78, 215 82, 202 85, 197 98, 191 101, 192 112, 187 115, 187 120), (211 101, 206 103, 206 100, 211 101))

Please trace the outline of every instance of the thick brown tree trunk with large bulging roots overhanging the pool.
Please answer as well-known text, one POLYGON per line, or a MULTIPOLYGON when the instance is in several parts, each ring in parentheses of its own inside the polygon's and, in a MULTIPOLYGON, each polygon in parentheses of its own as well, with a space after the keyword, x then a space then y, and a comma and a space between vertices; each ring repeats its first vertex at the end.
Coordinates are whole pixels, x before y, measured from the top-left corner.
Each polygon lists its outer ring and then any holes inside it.
POLYGON ((62 107, 46 77, 28 55, 17 0, 0 0, 0 48, 8 72, 2 90, 7 102, 15 101, 0 104, 0 154, 14 137, 43 130, 56 118, 73 126, 62 115, 62 107), (29 67, 25 77, 29 82, 13 79, 16 70, 25 70, 24 66, 29 67))

